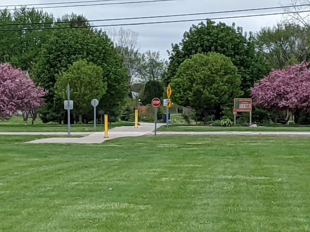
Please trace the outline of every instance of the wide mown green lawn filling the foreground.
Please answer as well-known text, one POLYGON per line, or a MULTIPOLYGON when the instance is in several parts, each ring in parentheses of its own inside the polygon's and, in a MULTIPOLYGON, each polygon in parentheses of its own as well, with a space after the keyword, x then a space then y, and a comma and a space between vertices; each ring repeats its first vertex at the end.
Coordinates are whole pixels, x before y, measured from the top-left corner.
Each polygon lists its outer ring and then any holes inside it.
POLYGON ((30 138, 0 136, 0 231, 310 230, 309 138, 30 138))

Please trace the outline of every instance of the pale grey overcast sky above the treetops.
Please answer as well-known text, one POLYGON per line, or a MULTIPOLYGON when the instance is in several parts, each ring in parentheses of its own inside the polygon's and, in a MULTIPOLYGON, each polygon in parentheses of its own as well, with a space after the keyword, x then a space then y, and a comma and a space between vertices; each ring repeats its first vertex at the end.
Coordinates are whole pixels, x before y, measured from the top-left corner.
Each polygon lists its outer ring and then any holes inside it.
MULTIPOLYGON (((19 5, 19 4, 34 4, 34 3, 49 3, 49 2, 75 2, 78 0, 10 0, 0 1, 0 5, 19 5)), ((79 0, 81 1, 81 0, 79 0)), ((118 0, 115 2, 132 2, 142 0, 118 0)), ((282 5, 287 5, 290 0, 281 0, 282 5)), ((91 4, 91 3, 89 3, 91 4)), ((94 3, 93 3, 94 4, 94 3)), ((66 4, 69 5, 69 4, 66 4)), ((75 4, 76 5, 76 4, 75 4)), ((51 12, 55 17, 65 13, 74 12, 83 14, 88 20, 96 19, 112 19, 124 17, 139 17, 139 16, 155 16, 155 15, 173 15, 186 13, 201 13, 212 11, 229 11, 240 9, 251 9, 261 7, 277 7, 280 6, 279 0, 175 0, 170 2, 152 2, 139 4, 124 4, 124 5, 105 5, 105 6, 88 6, 88 7, 64 7, 44 9, 51 12)), ((151 22, 165 20, 182 20, 182 19, 204 19, 213 17, 226 17, 235 15, 250 15, 276 13, 282 10, 264 10, 250 11, 242 13, 227 13, 227 14, 212 14, 212 15, 197 15, 197 16, 182 16, 170 17, 163 19, 148 19, 148 20, 126 20, 126 21, 109 21, 109 24, 114 23, 130 23, 130 22, 151 22)), ((221 20, 228 25, 232 22, 236 26, 242 26, 244 31, 258 31, 261 27, 272 26, 281 20, 281 15, 261 16, 240 19, 224 19, 221 20)), ((201 20, 200 20, 201 21, 201 20)), ((159 50, 162 56, 167 58, 167 49, 171 49, 171 43, 179 43, 183 37, 183 33, 188 31, 192 24, 197 24, 200 21, 169 23, 169 24, 151 24, 151 25, 135 25, 126 26, 139 33, 139 41, 141 50, 159 50)), ((219 21, 219 20, 215 20, 219 21)), ((95 25, 106 24, 107 22, 95 22, 95 25)))

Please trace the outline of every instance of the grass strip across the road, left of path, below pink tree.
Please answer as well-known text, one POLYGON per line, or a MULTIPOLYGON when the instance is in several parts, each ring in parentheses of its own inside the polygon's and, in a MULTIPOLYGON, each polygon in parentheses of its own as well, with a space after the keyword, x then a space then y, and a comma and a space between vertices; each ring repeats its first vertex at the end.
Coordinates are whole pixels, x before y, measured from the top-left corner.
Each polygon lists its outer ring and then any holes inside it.
MULTIPOLYGON (((135 126, 133 122, 115 122, 109 125, 109 128, 118 126, 135 126)), ((0 132, 67 132, 68 125, 59 125, 57 123, 43 124, 37 119, 34 125, 31 120, 25 125, 22 117, 13 117, 9 121, 0 121, 0 132)), ((71 125, 71 132, 93 132, 94 124, 71 125)), ((104 125, 97 125, 97 132, 104 131, 104 125)))

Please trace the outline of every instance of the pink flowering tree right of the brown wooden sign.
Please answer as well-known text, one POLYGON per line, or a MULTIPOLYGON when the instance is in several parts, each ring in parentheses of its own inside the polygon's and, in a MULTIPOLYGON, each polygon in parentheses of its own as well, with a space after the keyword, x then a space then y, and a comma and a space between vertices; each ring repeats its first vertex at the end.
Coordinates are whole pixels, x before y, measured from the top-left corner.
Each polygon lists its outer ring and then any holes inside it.
POLYGON ((289 110, 300 124, 302 112, 310 109, 308 63, 272 70, 251 88, 253 104, 271 110, 289 110))

